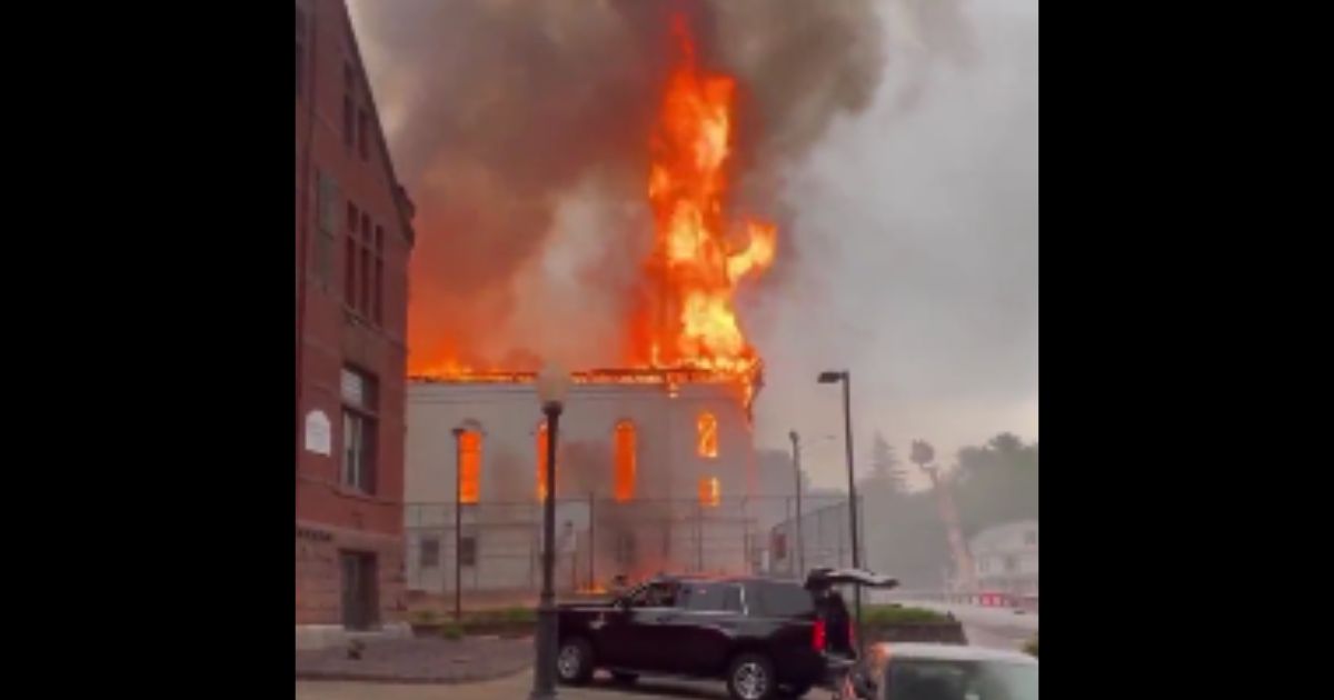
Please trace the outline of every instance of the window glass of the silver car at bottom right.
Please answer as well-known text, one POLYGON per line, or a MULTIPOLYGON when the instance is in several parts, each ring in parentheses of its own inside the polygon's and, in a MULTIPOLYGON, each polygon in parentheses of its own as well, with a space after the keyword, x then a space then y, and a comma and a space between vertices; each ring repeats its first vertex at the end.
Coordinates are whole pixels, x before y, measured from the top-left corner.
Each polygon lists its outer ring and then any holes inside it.
POLYGON ((883 700, 1038 700, 1038 667, 1006 661, 899 659, 883 700))

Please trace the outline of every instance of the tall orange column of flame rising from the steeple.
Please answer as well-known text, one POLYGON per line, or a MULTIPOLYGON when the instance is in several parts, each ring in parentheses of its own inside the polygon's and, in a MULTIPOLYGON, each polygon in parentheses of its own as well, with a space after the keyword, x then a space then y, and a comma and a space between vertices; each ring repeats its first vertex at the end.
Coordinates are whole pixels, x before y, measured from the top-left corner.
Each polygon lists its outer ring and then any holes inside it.
POLYGON ((679 61, 650 141, 654 251, 646 268, 652 285, 632 352, 651 367, 748 373, 759 357, 738 323, 734 295, 742 280, 772 264, 776 228, 727 220, 736 81, 699 67, 680 17, 672 32, 679 61))

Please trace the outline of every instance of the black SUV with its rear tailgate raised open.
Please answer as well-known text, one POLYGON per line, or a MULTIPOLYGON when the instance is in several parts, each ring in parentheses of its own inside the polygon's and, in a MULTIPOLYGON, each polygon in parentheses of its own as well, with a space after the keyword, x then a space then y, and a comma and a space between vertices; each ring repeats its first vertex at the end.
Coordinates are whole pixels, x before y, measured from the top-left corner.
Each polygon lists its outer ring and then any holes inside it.
POLYGON ((639 673, 720 679, 738 700, 799 697, 856 657, 847 608, 831 589, 848 583, 896 581, 855 569, 816 569, 804 584, 660 576, 610 603, 566 604, 556 677, 586 683, 604 668, 622 683, 639 673))

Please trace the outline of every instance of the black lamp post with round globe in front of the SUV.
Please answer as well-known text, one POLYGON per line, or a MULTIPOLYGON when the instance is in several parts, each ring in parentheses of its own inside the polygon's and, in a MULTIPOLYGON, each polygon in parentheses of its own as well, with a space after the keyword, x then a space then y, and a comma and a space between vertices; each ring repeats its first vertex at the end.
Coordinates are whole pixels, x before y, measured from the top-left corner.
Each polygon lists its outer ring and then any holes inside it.
POLYGON ((538 661, 532 675, 532 700, 556 697, 556 435, 560 409, 570 391, 570 375, 555 364, 538 373, 538 399, 547 416, 547 493, 542 500, 542 599, 538 604, 538 661))

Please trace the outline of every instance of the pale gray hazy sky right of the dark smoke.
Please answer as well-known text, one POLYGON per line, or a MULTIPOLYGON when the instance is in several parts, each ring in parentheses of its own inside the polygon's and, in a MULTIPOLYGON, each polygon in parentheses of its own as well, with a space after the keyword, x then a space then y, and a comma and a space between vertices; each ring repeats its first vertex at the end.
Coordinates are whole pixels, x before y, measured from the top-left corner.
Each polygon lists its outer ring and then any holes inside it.
MULTIPOLYGON (((350 7, 392 141, 403 115, 376 61, 394 47, 360 28, 382 1, 350 7)), ((1038 437, 1038 1, 962 7, 971 60, 924 60, 886 23, 872 104, 835 117, 786 173, 783 284, 740 299, 766 363, 756 444, 786 448, 796 429, 815 487, 846 484, 840 396, 815 384, 822 369, 851 371, 859 472, 875 432, 903 457, 928 440, 944 467, 999 432, 1038 437)))

